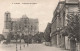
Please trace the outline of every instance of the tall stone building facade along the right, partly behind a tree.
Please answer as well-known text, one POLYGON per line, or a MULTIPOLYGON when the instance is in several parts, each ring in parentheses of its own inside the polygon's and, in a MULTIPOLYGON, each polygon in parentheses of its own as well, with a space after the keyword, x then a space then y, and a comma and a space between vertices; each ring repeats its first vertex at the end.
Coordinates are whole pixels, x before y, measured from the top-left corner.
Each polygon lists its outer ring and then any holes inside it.
POLYGON ((79 14, 79 0, 60 1, 53 13, 51 26, 51 44, 70 49, 70 42, 64 29, 67 26, 68 14, 79 14))

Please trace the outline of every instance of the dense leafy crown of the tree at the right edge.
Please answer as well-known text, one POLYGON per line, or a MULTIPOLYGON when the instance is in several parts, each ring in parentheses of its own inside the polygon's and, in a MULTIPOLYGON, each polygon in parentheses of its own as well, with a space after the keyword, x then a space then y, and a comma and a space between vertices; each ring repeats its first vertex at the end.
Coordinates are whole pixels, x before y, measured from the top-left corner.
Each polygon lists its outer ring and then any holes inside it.
POLYGON ((79 18, 78 15, 68 15, 67 32, 70 40, 79 40, 79 18))

